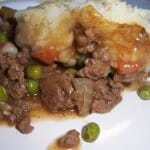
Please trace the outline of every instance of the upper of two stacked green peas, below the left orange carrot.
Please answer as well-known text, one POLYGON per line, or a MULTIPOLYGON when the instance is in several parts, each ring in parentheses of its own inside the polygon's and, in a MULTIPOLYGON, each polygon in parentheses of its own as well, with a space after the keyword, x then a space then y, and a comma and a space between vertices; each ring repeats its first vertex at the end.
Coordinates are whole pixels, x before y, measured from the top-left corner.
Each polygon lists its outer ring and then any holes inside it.
POLYGON ((26 70, 27 78, 38 80, 42 76, 42 67, 40 65, 29 65, 26 70))

